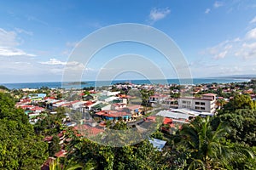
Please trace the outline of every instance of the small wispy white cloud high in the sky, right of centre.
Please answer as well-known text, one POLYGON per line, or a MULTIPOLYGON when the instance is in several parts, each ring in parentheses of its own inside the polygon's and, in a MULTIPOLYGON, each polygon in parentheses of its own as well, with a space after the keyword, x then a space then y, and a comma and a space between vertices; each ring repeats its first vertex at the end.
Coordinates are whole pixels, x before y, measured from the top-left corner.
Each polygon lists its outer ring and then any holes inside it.
POLYGON ((153 8, 149 14, 149 20, 154 23, 155 21, 166 18, 166 16, 170 13, 171 10, 169 8, 153 8))

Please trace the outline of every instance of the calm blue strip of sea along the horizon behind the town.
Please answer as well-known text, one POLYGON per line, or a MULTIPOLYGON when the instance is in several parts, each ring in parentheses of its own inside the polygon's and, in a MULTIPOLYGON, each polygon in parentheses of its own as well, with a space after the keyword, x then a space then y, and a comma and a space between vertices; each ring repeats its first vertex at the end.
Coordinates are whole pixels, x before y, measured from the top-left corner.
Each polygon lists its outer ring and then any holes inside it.
POLYGON ((191 80, 179 80, 179 79, 167 79, 167 80, 114 80, 111 81, 88 81, 85 84, 81 85, 74 85, 70 83, 65 83, 62 85, 62 82, 22 82, 22 83, 2 83, 5 87, 9 89, 14 88, 41 88, 41 87, 48 87, 48 88, 84 88, 84 87, 101 87, 101 86, 108 86, 110 84, 118 83, 118 82, 131 82, 133 84, 180 84, 182 82, 189 83, 189 84, 202 84, 202 83, 229 83, 229 82, 248 82, 249 79, 234 79, 234 78, 195 78, 191 80))

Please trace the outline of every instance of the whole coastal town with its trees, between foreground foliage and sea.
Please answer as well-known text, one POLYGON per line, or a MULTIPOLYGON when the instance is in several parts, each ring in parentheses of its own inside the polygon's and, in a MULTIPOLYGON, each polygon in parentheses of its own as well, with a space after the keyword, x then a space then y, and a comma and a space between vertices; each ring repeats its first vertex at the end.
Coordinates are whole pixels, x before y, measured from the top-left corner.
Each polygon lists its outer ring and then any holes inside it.
MULTIPOLYGON (((51 160, 66 156, 72 140, 67 129, 79 137, 95 139, 117 125, 143 129, 147 128, 143 124, 150 122, 159 124, 162 133, 174 134, 196 116, 217 115, 236 94, 246 95, 255 103, 255 85, 255 80, 187 86, 125 82, 101 88, 22 88, 8 93, 16 99, 15 107, 24 111, 35 132, 53 148, 51 160)), ((1 91, 7 89, 2 87, 1 91)), ((150 143, 155 148, 168 147, 162 137, 153 136, 150 143)), ((49 160, 43 167, 49 167, 49 160)))

